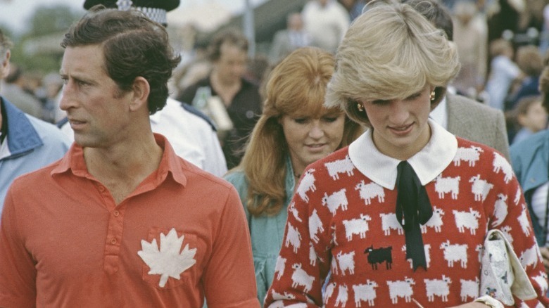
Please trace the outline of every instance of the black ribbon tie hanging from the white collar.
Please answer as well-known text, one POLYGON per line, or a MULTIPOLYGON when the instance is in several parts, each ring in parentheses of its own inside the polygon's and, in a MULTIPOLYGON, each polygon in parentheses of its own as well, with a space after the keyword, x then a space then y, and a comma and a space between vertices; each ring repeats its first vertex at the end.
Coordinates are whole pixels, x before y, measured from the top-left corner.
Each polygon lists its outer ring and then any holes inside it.
POLYGON ((412 166, 404 160, 396 170, 396 218, 404 229, 406 259, 412 259, 414 271, 417 267, 427 269, 419 224, 429 221, 433 216, 433 207, 412 166))

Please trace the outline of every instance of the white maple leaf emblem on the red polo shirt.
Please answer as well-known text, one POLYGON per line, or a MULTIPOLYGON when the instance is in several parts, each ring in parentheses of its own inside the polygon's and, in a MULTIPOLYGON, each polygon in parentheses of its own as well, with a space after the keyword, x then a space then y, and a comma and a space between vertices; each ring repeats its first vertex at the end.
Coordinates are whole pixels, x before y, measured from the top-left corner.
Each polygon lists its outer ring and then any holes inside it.
POLYGON ((151 268, 149 275, 160 275, 158 283, 160 288, 166 285, 169 277, 179 279, 179 275, 183 271, 196 263, 196 259, 194 259, 196 248, 189 249, 189 244, 187 244, 179 252, 184 237, 182 235, 178 238, 177 231, 173 228, 168 232, 168 236, 160 233, 160 250, 156 245, 156 238, 151 243, 141 240, 141 250, 137 252, 137 255, 151 268))

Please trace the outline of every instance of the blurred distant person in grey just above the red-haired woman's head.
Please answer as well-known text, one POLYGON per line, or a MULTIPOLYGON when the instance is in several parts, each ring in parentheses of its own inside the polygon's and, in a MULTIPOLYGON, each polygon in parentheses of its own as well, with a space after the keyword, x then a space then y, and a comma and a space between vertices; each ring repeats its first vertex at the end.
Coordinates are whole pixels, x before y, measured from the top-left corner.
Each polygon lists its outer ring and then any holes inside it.
POLYGON ((308 46, 310 41, 310 34, 303 27, 301 13, 289 14, 286 18, 286 29, 277 31, 272 39, 269 53, 270 63, 276 65, 292 51, 308 46))

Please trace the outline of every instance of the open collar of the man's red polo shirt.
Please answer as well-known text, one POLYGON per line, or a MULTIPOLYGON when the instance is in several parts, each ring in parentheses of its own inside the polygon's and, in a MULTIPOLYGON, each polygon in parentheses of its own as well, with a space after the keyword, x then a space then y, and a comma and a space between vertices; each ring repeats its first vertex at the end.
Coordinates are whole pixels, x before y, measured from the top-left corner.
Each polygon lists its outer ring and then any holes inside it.
MULTIPOLYGON (((158 184, 167 177, 168 173, 170 173, 177 183, 185 186, 187 184, 187 177, 185 177, 182 170, 180 158, 175 154, 168 139, 161 134, 154 134, 154 139, 156 144, 163 149, 160 165, 156 171, 158 184)), ((72 171, 72 174, 75 174, 78 177, 92 179, 92 175, 89 174, 84 160, 84 150, 82 150, 82 146, 79 146, 76 143, 72 143, 67 155, 61 159, 59 165, 51 171, 51 174, 61 174, 67 172, 69 169, 72 171)))

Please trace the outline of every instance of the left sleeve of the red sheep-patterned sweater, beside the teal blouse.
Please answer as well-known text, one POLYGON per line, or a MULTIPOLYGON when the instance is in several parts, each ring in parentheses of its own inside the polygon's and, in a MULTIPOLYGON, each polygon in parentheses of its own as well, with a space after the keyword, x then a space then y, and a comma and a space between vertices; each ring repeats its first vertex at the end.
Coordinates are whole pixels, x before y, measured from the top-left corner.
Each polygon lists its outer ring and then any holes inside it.
MULTIPOLYGON (((282 249, 265 307, 303 303, 322 307, 322 284, 331 262, 329 219, 322 188, 314 187, 314 169, 303 174, 288 207, 282 249)), ((319 181, 317 181, 319 182, 319 181)))

